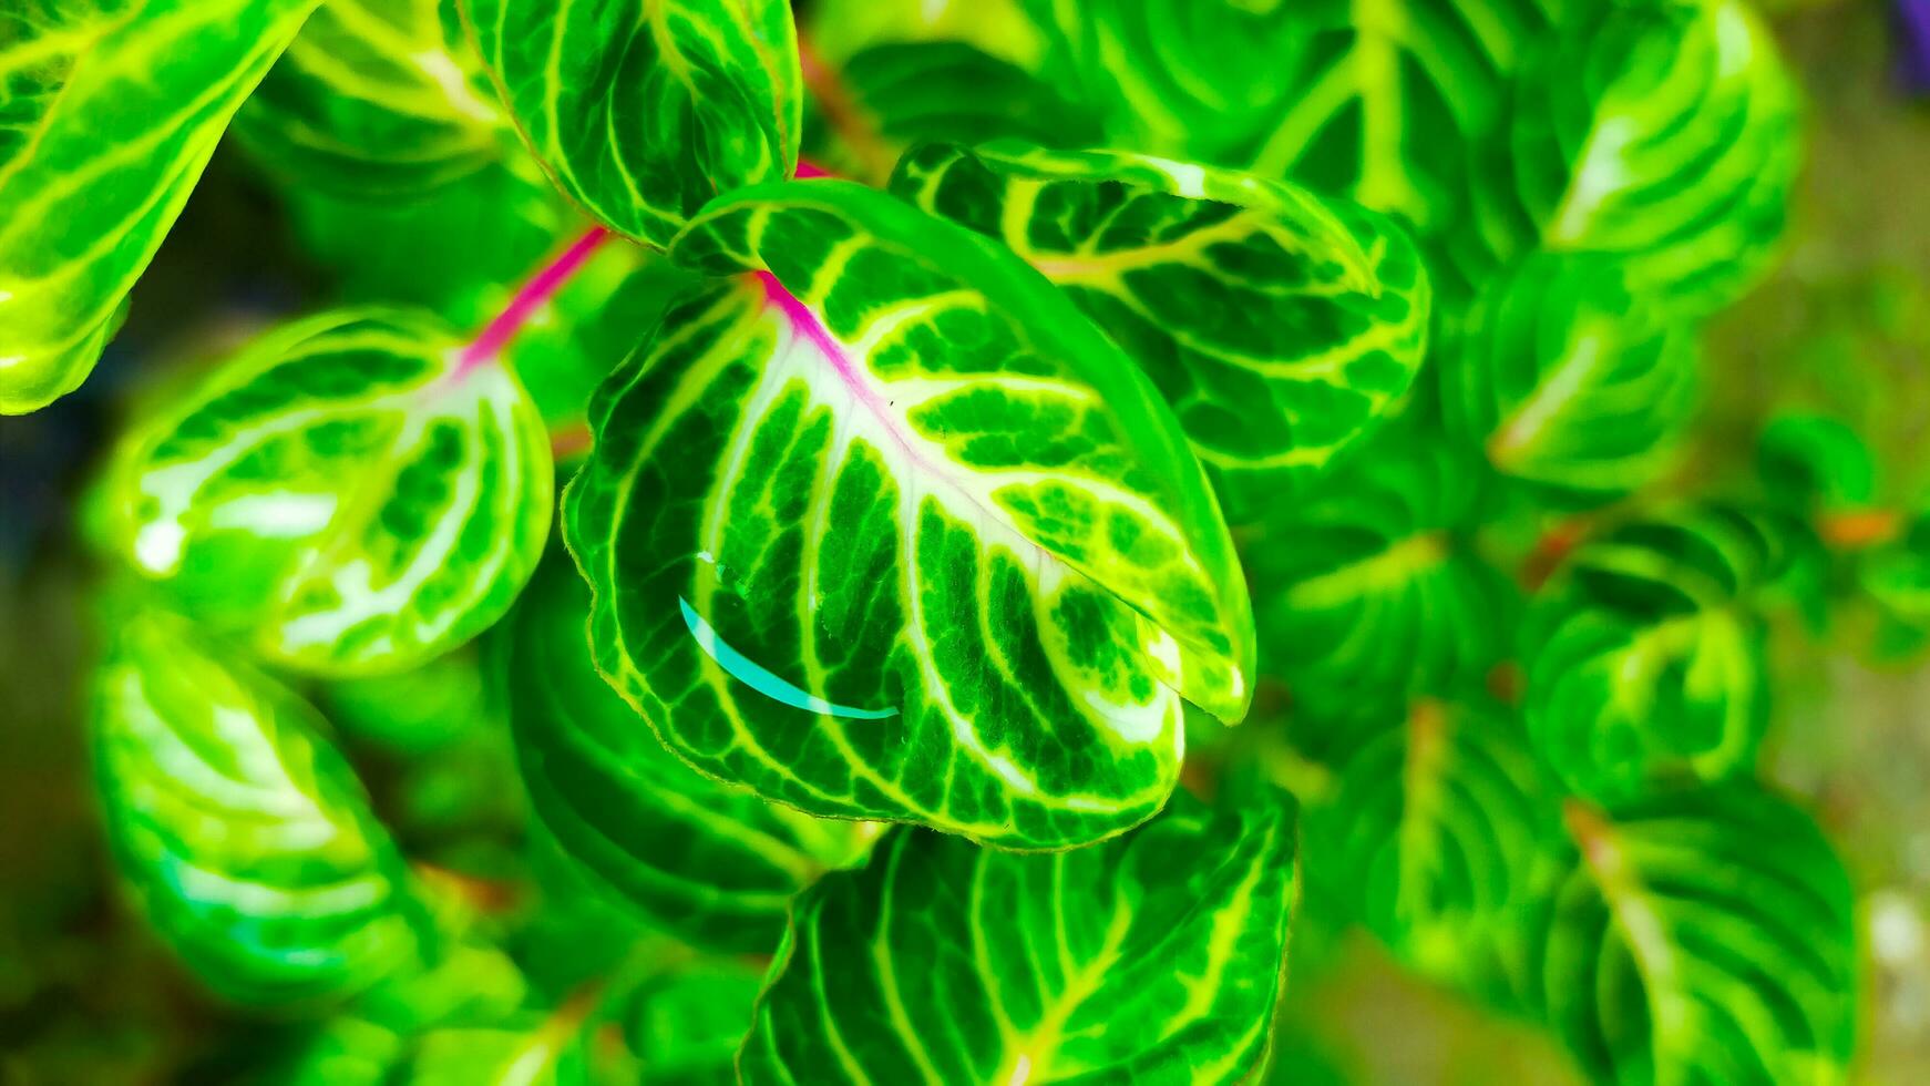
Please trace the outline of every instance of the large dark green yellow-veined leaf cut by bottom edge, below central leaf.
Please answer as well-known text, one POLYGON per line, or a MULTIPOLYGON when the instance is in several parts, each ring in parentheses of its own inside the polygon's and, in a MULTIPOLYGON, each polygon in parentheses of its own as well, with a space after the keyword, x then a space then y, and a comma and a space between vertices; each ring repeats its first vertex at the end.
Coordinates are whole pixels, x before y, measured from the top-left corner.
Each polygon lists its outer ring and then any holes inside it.
POLYGON ((1179 793, 1048 856, 896 829, 799 901, 741 1082, 1243 1082, 1280 991, 1289 808, 1179 793))

